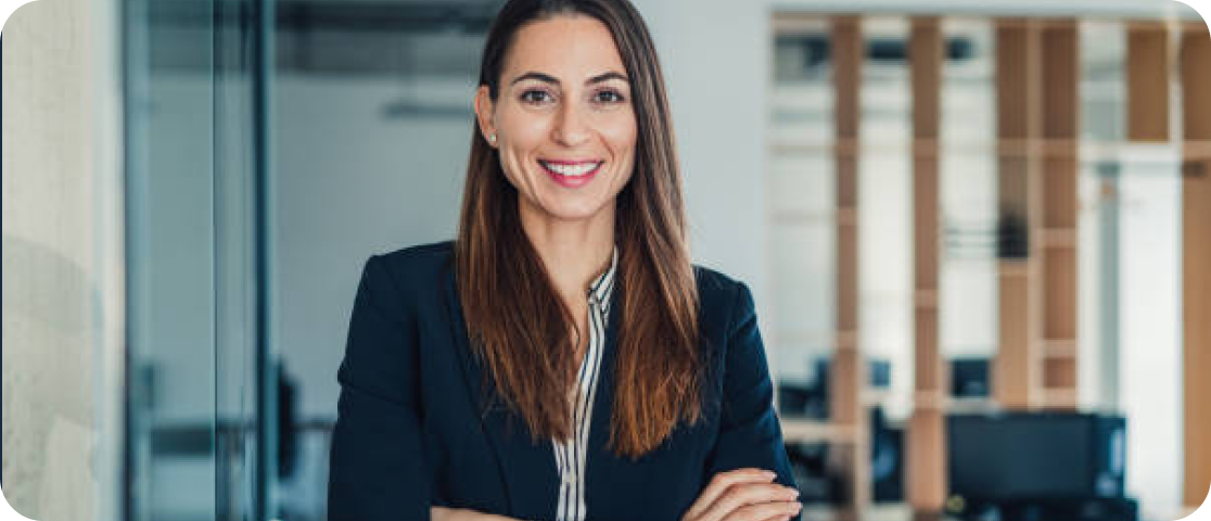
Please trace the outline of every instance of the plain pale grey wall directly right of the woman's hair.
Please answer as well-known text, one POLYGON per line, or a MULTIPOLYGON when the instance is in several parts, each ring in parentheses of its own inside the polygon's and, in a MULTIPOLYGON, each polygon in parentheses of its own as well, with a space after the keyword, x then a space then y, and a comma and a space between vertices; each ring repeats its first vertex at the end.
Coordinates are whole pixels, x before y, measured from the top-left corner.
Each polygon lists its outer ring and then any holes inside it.
POLYGON ((761 313, 773 44, 765 10, 759 2, 722 0, 635 4, 667 81, 695 262, 746 281, 761 313))

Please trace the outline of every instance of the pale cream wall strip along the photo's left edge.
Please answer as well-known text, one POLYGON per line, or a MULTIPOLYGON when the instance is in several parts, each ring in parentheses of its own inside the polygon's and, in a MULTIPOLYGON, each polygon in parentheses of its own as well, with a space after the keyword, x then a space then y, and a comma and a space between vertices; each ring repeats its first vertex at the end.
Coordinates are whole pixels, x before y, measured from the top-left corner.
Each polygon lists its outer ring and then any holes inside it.
POLYGON ((115 13, 39 0, 4 24, 4 519, 119 499, 115 13))

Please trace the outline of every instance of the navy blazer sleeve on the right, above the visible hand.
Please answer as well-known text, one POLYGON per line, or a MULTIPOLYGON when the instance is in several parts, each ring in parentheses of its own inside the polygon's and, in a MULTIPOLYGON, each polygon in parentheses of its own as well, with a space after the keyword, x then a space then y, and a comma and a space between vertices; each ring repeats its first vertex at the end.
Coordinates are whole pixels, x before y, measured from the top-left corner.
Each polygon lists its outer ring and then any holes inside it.
POLYGON ((794 487, 752 293, 744 282, 737 286, 724 353, 719 434, 707 457, 705 477, 752 466, 773 470, 776 482, 794 487))

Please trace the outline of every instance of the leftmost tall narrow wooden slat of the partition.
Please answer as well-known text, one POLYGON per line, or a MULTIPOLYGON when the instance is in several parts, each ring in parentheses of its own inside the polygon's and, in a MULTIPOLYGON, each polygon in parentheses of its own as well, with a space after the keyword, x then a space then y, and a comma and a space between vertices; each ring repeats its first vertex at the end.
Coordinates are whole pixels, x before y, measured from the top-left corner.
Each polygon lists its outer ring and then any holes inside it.
POLYGON ((860 433, 848 446, 833 446, 834 464, 848 477, 849 505, 856 511, 869 503, 869 448, 866 435, 866 362, 859 340, 857 305, 857 158, 862 85, 861 19, 832 19, 833 90, 836 96, 837 160, 837 332, 831 365, 830 411, 832 422, 860 433), (842 218, 844 217, 844 218, 842 218))

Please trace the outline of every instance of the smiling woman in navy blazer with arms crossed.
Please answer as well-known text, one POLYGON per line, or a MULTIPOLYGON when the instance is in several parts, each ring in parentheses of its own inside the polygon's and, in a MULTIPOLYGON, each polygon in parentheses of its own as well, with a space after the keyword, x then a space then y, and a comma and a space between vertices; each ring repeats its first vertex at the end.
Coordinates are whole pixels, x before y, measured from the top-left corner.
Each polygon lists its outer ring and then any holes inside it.
POLYGON ((639 15, 510 1, 475 111, 458 240, 366 263, 328 519, 797 516, 752 297, 689 262, 639 15))

